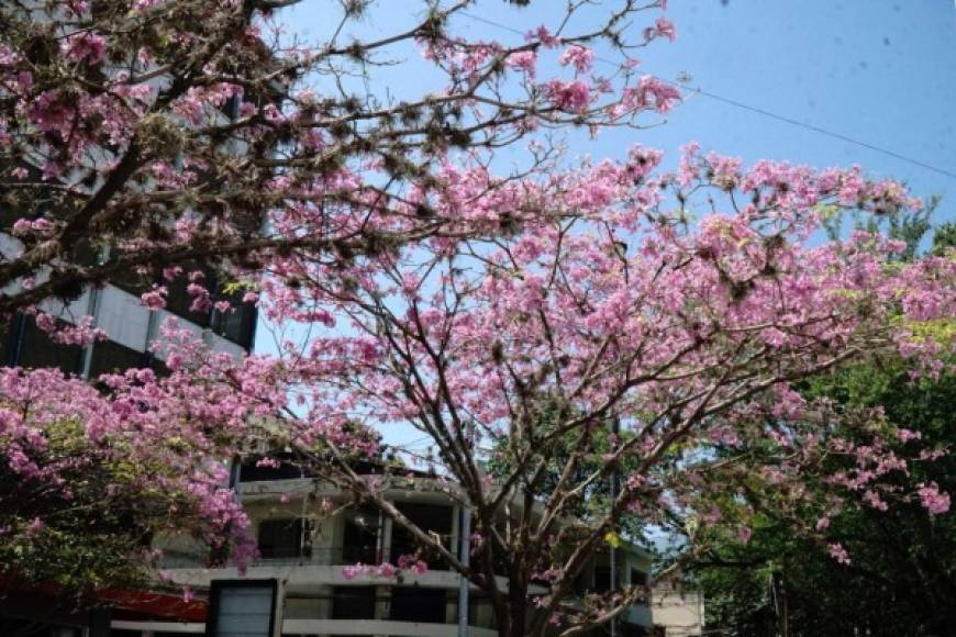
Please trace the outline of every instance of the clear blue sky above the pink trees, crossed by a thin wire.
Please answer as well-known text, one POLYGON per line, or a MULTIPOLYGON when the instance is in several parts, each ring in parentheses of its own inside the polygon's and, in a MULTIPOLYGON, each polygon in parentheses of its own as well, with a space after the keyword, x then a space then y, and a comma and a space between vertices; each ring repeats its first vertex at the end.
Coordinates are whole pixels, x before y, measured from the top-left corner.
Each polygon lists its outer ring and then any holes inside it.
MULTIPOLYGON (((291 32, 315 42, 332 26, 330 4, 304 0, 281 19, 291 32)), ((482 20, 521 31, 554 25, 564 4, 536 0, 516 8, 481 0, 453 30, 515 42, 514 33, 482 20)), ((420 14, 416 0, 379 0, 359 33, 394 33, 420 14)), ((582 21, 596 14, 585 13, 582 21)), ((677 25, 677 42, 643 52, 645 72, 666 79, 686 75, 690 86, 722 98, 956 174, 953 0, 670 0, 667 16, 677 25)), ((635 21, 635 32, 646 25, 642 20, 635 21)), ((397 59, 405 64, 376 76, 374 91, 411 97, 440 88, 413 47, 398 49, 397 59)), ((956 177, 700 94, 689 94, 664 125, 607 132, 594 142, 582 135, 568 141, 573 154, 593 157, 620 157, 641 143, 664 149, 672 165, 679 147, 691 139, 748 163, 859 164, 870 175, 908 182, 916 194, 943 194, 940 219, 956 219, 956 177)))

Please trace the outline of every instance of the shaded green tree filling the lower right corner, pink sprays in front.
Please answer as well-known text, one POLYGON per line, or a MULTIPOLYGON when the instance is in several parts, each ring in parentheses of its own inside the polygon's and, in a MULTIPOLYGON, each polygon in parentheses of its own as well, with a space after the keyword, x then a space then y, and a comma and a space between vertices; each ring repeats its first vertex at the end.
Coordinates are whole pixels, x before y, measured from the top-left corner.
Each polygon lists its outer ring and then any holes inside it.
MULTIPOLYGON (((908 259, 920 254, 932 227, 923 214, 867 219, 867 225, 870 222, 904 238, 908 249, 901 256, 908 259)), ((945 255, 956 245, 949 225, 933 228, 931 254, 945 255)), ((947 329, 952 323, 924 327, 947 329)), ((945 360, 952 364, 952 356, 945 360)), ((953 582, 946 574, 953 567, 945 556, 954 555, 956 517, 944 514, 956 471, 952 454, 944 451, 952 447, 948 423, 956 376, 913 379, 911 373, 909 361, 889 353, 800 383, 799 391, 809 400, 830 413, 838 410, 840 417, 830 418, 830 426, 842 428, 838 435, 847 440, 845 452, 822 459, 825 471, 803 480, 802 487, 816 493, 808 493, 800 506, 776 506, 766 493, 772 485, 756 483, 742 472, 722 476, 726 483, 737 484, 738 498, 718 500, 703 511, 723 524, 701 530, 690 565, 694 584, 707 595, 710 626, 765 635, 776 619, 789 623, 794 633, 812 635, 945 634, 954 613, 948 604, 953 582), (859 426, 859 418, 866 420, 865 426, 859 426), (856 473, 854 447, 872 444, 875 436, 883 455, 922 460, 885 474, 878 490, 863 479, 843 491, 849 496, 834 498, 834 487, 843 485, 820 478, 856 473), (885 499, 887 493, 891 500, 885 499), (751 505, 741 506, 747 500, 751 505), (835 551, 837 546, 849 561, 833 559, 834 552, 843 556, 835 551), (781 596, 786 617, 775 608, 775 599, 781 596)))

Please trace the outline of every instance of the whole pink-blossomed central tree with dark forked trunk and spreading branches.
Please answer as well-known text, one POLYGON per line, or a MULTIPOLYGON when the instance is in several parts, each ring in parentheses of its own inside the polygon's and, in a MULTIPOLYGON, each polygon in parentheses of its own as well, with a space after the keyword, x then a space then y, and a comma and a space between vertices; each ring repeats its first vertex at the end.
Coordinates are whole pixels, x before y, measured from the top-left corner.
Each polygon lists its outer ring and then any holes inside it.
MULTIPOLYGON (((826 242, 820 232, 841 209, 882 214, 919 202, 857 170, 769 161, 743 170, 690 147, 677 174, 655 175, 659 159, 637 147, 620 164, 492 192, 483 168, 446 166, 446 188, 429 204, 510 232, 435 238, 344 272, 290 257, 262 280, 269 316, 316 329, 270 370, 299 403, 288 406, 284 443, 466 574, 491 600, 502 635, 554 624, 577 634, 641 595, 566 604, 626 516, 677 526, 691 552, 709 526, 745 539, 748 499, 731 476, 791 510, 815 504, 803 487, 811 476, 832 487, 831 504, 864 494, 881 506, 922 502, 929 515, 947 509, 934 485, 883 484, 908 467, 881 443, 893 434, 793 387, 893 348, 914 373, 947 371, 938 354, 952 334, 938 326, 956 301, 952 259, 891 262, 902 242, 867 233, 826 242), (619 433, 609 436, 612 421, 619 433), (837 421, 866 442, 829 424, 837 421), (355 454, 380 451, 357 425, 397 423, 429 439, 431 454, 418 459, 473 510, 471 565, 385 498, 405 483, 401 469, 375 480, 352 469, 355 454), (322 452, 310 454, 320 440, 322 452), (834 455, 852 468, 829 473, 823 460, 834 455), (612 472, 622 473, 620 491, 569 523, 612 472), (708 503, 726 499, 738 500, 740 516, 709 514, 708 503), (494 578, 502 560, 507 588, 494 578), (530 612, 533 582, 547 592, 530 612)), ((838 545, 831 552, 848 559, 838 545)))

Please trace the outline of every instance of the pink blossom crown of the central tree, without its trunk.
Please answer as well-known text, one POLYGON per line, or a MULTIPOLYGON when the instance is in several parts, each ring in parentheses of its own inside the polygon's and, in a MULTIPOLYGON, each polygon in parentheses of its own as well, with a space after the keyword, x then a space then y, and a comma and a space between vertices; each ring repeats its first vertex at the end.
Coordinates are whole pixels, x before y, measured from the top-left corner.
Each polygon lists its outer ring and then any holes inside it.
MULTIPOLYGON (((804 472, 818 470, 821 455, 848 459, 852 469, 821 477, 836 501, 824 503, 820 530, 854 501, 883 511, 905 500, 891 485, 910 459, 879 438, 829 435, 809 417, 820 405, 790 379, 851 360, 875 343, 933 364, 941 344, 914 338, 908 322, 956 310, 954 265, 929 257, 888 268, 899 245, 874 235, 811 239, 823 222, 820 210, 843 206, 851 190, 852 209, 863 214, 887 198, 901 206, 918 202, 904 190, 860 180, 856 169, 770 161, 746 168, 693 146, 675 174, 658 174, 659 161, 659 152, 635 147, 622 163, 586 161, 497 187, 481 166, 446 165, 443 188, 413 191, 411 201, 456 220, 463 236, 493 232, 507 216, 507 238, 488 245, 435 238, 414 252, 359 260, 347 280, 301 258, 274 264, 263 281, 267 314, 318 329, 307 348, 289 343, 285 362, 298 385, 311 388, 300 395, 311 428, 336 447, 368 454, 375 449, 363 442, 368 429, 355 423, 387 431, 432 422, 454 406, 468 414, 469 435, 490 445, 508 435, 531 383, 546 395, 574 391, 575 413, 613 402, 620 414, 674 413, 680 405, 676 413, 690 417, 722 405, 720 418, 702 417, 682 434, 685 445, 744 452, 772 443, 774 461, 749 470, 790 502, 812 504, 804 472), (751 203, 727 204, 682 227, 667 214, 668 190, 718 202, 733 192, 751 203), (285 284, 290 276, 296 286, 285 284), (356 334, 338 332, 336 316, 356 334), (722 373, 731 380, 714 384, 722 373)), ((287 220, 290 230, 308 224, 287 220)), ((652 461, 676 435, 668 422, 672 415, 653 427, 635 423, 640 435, 612 439, 600 457, 652 461)), ((635 474, 626 485, 634 493, 666 490, 676 506, 722 489, 690 463, 664 480, 635 474)), ((947 496, 921 498, 932 512, 947 496)), ((660 514, 646 500, 633 511, 660 514)), ((749 529, 730 517, 708 524, 749 529)), ((747 530, 741 534, 745 541, 747 530)))

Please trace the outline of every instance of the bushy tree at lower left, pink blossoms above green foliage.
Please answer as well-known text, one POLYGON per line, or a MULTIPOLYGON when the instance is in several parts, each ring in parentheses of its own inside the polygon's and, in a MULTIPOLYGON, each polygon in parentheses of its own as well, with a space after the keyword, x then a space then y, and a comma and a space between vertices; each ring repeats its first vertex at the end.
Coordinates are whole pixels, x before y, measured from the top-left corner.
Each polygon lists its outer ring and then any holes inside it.
POLYGON ((170 378, 145 414, 138 394, 152 372, 103 380, 112 396, 58 371, 0 370, 4 586, 55 584, 64 604, 84 605, 99 588, 154 581, 153 543, 164 535, 225 546, 223 557, 230 545, 237 558, 253 549, 225 468, 208 458, 225 435, 176 404, 212 405, 215 392, 170 378))

